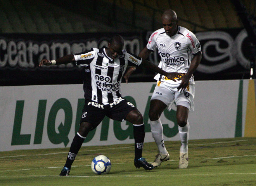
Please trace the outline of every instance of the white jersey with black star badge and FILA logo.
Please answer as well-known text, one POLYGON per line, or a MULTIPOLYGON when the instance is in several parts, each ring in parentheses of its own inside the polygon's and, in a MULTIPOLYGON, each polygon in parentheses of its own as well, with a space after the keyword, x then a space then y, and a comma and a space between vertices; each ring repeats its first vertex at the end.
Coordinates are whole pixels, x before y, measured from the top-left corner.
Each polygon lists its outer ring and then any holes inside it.
MULTIPOLYGON (((192 55, 201 51, 201 45, 195 34, 188 29, 178 26, 178 31, 173 36, 168 36, 164 28, 158 29, 151 34, 147 43, 149 50, 158 48, 161 57, 159 67, 166 72, 187 73, 192 60, 192 55)), ((157 74, 157 81, 170 84, 180 84, 181 81, 172 81, 161 74, 157 74)), ((194 84, 194 77, 190 78, 190 83, 194 84)))

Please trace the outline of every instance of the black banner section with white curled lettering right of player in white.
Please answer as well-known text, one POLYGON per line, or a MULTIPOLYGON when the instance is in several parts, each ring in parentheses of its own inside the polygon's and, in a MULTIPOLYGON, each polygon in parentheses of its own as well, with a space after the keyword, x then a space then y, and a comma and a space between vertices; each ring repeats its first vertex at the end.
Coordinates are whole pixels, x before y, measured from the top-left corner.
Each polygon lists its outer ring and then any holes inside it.
POLYGON ((202 46, 202 61, 194 75, 200 80, 249 79, 251 43, 245 29, 195 34, 202 46))

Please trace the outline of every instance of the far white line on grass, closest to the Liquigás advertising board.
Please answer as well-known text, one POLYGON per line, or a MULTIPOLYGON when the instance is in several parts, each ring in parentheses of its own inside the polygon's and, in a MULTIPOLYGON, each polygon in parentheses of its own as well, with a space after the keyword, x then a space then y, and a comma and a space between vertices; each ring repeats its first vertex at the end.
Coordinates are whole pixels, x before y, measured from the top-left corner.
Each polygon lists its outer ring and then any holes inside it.
MULTIPOLYGON (((248 140, 235 140, 235 141, 224 141, 224 142, 215 142, 215 143, 202 143, 202 144, 190 144, 190 145, 212 145, 212 144, 221 144, 221 143, 233 143, 238 141, 248 141, 248 140)), ((126 146, 126 147, 119 147, 119 148, 105 148, 105 149, 95 149, 95 150, 85 150, 81 152, 92 152, 97 150, 113 150, 113 149, 123 149, 123 148, 134 148, 134 146, 126 146)), ((80 152, 80 153, 81 153, 80 152)), ((45 156, 45 155, 54 155, 54 154, 64 154, 67 152, 56 152, 56 153, 46 153, 46 154, 30 154, 30 155, 16 155, 16 156, 3 156, 0 158, 10 158, 10 157, 24 157, 24 156, 45 156)))

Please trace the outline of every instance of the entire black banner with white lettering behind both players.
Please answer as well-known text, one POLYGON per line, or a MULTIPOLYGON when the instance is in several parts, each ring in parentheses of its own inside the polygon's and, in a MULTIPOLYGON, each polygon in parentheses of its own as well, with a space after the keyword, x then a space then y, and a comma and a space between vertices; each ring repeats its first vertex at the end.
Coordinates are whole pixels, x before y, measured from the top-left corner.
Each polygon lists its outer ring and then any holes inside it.
MULTIPOLYGON (((0 86, 83 83, 82 67, 75 64, 38 67, 38 62, 107 46, 114 34, 1 34, 0 86)), ((138 55, 150 32, 121 35, 125 39, 124 48, 138 55)), ((195 80, 249 78, 250 44, 245 30, 208 31, 196 36, 201 42, 203 58, 194 73, 195 80)), ((158 64, 157 51, 149 60, 158 64)), ((154 81, 153 77, 154 72, 139 67, 130 82, 154 81)))

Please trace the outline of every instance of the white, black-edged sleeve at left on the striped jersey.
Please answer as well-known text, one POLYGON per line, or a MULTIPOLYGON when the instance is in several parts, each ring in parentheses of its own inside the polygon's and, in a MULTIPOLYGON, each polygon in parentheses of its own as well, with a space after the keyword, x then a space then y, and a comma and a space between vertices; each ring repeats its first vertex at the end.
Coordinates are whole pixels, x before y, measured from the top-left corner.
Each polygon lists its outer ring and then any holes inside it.
POLYGON ((76 65, 88 66, 95 56, 96 52, 91 48, 86 52, 75 53, 74 59, 76 60, 76 65))

